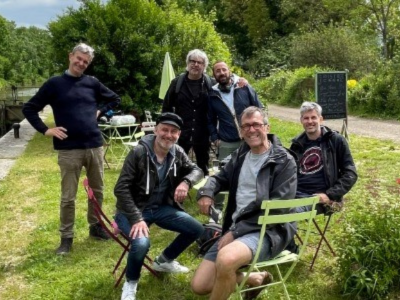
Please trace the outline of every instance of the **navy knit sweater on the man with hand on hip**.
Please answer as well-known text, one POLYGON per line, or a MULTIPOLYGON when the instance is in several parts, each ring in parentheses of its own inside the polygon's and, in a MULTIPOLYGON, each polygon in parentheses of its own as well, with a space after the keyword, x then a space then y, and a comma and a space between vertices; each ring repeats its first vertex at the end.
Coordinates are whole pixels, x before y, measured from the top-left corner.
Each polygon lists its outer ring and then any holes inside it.
POLYGON ((64 140, 53 138, 54 149, 89 149, 103 145, 97 110, 104 113, 119 102, 119 96, 95 77, 73 77, 64 73, 46 81, 25 103, 22 111, 29 123, 44 134, 48 127, 39 117, 39 112, 50 105, 56 126, 66 128, 68 135, 64 140))

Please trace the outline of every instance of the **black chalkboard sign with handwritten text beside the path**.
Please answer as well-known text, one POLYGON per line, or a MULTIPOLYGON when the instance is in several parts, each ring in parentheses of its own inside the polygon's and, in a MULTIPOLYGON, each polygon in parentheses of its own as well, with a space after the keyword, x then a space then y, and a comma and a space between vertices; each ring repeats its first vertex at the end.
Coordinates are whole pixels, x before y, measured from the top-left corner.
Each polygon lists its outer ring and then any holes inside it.
POLYGON ((315 89, 324 119, 347 118, 347 72, 317 73, 315 89))

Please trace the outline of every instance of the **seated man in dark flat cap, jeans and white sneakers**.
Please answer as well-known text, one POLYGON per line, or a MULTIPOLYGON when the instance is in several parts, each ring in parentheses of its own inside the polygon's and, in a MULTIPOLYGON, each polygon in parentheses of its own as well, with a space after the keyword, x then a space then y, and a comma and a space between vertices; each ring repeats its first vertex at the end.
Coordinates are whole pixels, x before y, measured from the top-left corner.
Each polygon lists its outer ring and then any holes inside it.
POLYGON ((132 239, 123 300, 136 299, 140 270, 150 248, 151 224, 178 233, 154 260, 153 268, 159 272, 188 272, 175 259, 203 232, 202 224, 181 206, 190 187, 203 178, 202 170, 176 144, 182 125, 178 115, 161 114, 154 135, 144 136, 126 157, 115 186, 115 221, 132 239))

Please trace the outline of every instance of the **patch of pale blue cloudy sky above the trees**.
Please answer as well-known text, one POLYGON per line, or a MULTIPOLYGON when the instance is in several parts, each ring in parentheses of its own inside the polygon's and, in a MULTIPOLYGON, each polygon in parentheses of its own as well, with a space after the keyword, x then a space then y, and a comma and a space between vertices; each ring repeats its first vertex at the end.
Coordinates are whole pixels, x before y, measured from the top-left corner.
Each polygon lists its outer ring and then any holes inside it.
POLYGON ((0 0, 0 15, 17 26, 46 28, 66 8, 78 8, 78 0, 0 0))

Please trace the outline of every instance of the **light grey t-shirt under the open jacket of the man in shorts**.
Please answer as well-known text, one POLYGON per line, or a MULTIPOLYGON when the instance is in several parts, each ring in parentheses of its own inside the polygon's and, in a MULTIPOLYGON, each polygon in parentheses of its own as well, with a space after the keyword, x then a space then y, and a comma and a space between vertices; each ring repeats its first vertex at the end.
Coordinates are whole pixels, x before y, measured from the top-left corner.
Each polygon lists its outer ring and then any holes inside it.
POLYGON ((236 210, 232 215, 233 223, 236 222, 240 211, 250 202, 256 200, 257 195, 257 174, 261 166, 271 153, 268 151, 261 154, 254 154, 249 151, 244 159, 242 169, 239 174, 239 185, 236 191, 236 210))

